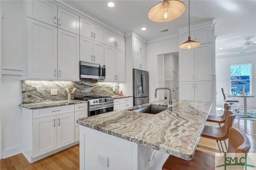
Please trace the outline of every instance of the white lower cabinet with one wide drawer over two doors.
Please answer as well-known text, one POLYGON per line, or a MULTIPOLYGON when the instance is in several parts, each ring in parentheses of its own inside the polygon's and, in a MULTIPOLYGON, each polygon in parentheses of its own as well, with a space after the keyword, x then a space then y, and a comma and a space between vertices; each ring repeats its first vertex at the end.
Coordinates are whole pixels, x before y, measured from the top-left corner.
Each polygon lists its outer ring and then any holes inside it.
POLYGON ((74 105, 22 108, 22 154, 29 162, 76 144, 74 111, 74 105))

